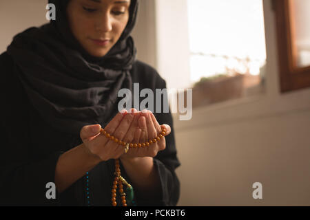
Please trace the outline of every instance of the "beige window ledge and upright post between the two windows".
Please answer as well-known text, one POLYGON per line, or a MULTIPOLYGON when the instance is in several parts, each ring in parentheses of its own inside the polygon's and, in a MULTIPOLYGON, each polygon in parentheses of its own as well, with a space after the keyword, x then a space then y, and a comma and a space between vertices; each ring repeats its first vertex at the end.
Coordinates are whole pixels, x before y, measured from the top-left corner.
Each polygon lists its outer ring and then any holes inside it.
MULTIPOLYGON (((263 123, 269 118, 309 112, 310 88, 286 94, 280 92, 275 11, 272 0, 262 0, 262 2, 267 53, 265 94, 227 100, 193 109, 192 119, 187 121, 179 120, 179 113, 172 113, 176 134, 186 135, 199 132, 199 129, 207 131, 214 127, 234 126, 238 123, 251 123, 255 120, 260 120, 263 123)), ((165 25, 165 23, 161 25, 165 25)), ((165 38, 162 40, 165 41, 165 38)), ((169 50, 169 47, 165 50, 169 50)), ((180 146, 180 148, 182 147, 180 146)))

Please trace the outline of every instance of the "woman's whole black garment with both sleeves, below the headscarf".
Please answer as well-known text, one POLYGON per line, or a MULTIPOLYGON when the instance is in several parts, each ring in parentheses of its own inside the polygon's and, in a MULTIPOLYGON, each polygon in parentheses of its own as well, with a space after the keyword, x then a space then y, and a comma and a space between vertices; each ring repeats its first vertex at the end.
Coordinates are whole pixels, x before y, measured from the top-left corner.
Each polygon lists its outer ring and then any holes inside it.
MULTIPOLYGON (((76 146, 72 140, 81 140, 79 137, 69 137, 51 129, 49 124, 36 118, 35 112, 32 114, 34 109, 17 76, 13 74, 12 66, 12 59, 8 54, 1 54, 0 98, 3 105, 0 110, 0 206, 74 206, 76 204, 87 206, 84 198, 77 196, 83 195, 85 190, 83 177, 79 181, 80 184, 73 184, 62 193, 56 191, 56 199, 46 198, 48 191, 46 184, 54 182, 59 156, 76 146)), ((165 80, 156 70, 144 63, 137 61, 132 74, 134 83, 138 82, 142 87, 148 87, 153 91, 155 88, 166 87, 165 80), (142 74, 147 76, 144 77, 142 74)), ((176 157, 172 114, 155 113, 155 117, 159 124, 169 124, 172 128, 171 133, 165 137, 165 150, 158 152, 154 157, 154 165, 161 180, 161 193, 156 199, 145 199, 141 195, 135 195, 136 203, 138 206, 175 206, 180 192, 180 183, 175 169, 180 166, 180 163, 176 157)), ((114 169, 111 165, 110 162, 103 162, 90 170, 90 188, 93 195, 91 205, 109 206, 111 204, 110 188, 114 169)))

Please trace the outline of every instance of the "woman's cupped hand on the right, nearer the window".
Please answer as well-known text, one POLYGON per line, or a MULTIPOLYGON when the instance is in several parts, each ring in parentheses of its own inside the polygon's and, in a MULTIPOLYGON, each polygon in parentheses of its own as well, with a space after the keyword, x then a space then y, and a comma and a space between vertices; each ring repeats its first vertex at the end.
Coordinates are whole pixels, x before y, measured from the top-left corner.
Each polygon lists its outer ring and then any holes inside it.
MULTIPOLYGON (((165 136, 171 132, 168 124, 158 124, 152 111, 143 110, 142 112, 136 113, 136 117, 135 120, 138 126, 136 127, 133 143, 145 143, 153 140, 161 133, 161 127, 166 129, 165 136)), ((130 157, 155 157, 158 151, 163 151, 166 148, 165 136, 161 137, 156 143, 149 144, 149 146, 130 148, 127 153, 121 156, 121 159, 128 159, 130 157)))

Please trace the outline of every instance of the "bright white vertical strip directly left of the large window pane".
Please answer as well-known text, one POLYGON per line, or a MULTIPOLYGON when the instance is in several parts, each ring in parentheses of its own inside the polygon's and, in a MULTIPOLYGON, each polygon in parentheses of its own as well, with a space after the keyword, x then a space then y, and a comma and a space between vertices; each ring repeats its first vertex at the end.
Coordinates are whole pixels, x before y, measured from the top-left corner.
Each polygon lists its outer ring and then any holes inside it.
POLYGON ((158 72, 168 88, 185 88, 190 83, 187 0, 155 3, 158 72))

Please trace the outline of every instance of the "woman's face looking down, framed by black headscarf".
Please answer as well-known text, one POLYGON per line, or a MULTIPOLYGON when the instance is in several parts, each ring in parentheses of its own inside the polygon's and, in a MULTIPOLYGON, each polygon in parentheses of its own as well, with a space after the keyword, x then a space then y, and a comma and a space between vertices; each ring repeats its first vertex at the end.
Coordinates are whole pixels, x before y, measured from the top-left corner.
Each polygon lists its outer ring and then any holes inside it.
POLYGON ((130 0, 70 0, 70 29, 92 56, 105 56, 118 41, 130 17, 130 0))

